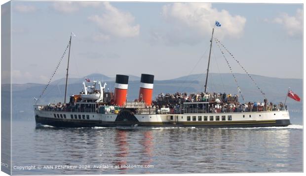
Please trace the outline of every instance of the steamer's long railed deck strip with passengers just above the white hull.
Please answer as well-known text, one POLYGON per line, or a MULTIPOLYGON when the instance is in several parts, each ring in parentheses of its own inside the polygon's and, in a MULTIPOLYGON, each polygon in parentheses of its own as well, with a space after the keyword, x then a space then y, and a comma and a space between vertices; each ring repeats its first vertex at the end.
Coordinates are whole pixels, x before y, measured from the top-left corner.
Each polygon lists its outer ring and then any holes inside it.
POLYGON ((205 113, 235 113, 235 112, 260 112, 287 110, 282 104, 266 106, 247 104, 215 104, 210 102, 184 102, 182 105, 171 107, 144 106, 142 103, 128 102, 125 106, 107 106, 98 103, 75 103, 64 106, 61 104, 47 106, 36 105, 35 110, 60 111, 60 112, 86 112, 86 113, 108 113, 117 114, 121 109, 132 109, 135 114, 205 114, 205 113))

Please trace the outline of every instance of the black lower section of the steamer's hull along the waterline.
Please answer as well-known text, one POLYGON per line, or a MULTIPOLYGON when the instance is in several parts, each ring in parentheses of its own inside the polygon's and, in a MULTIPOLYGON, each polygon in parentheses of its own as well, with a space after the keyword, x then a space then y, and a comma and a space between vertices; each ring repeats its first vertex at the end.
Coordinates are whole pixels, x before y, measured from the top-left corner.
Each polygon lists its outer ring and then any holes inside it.
POLYGON ((36 124, 53 127, 199 127, 199 128, 250 128, 250 127, 285 127, 290 120, 263 121, 220 121, 220 122, 179 122, 179 123, 144 123, 144 122, 103 122, 94 120, 57 119, 35 117, 36 124))

